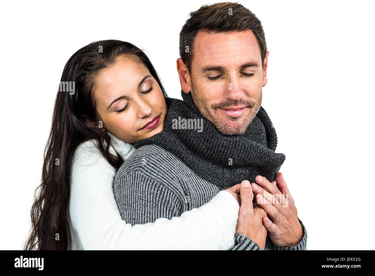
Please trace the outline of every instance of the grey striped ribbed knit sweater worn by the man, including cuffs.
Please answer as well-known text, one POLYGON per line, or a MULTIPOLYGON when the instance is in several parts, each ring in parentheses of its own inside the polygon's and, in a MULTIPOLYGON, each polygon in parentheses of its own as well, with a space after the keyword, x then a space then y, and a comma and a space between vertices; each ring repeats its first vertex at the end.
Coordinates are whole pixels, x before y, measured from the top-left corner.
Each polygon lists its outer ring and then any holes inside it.
MULTIPOLYGON (((174 154, 157 145, 137 149, 118 169, 114 193, 121 217, 144 224, 160 217, 171 219, 200 207, 219 191, 216 184, 196 175, 174 154)), ((265 250, 306 250, 307 232, 293 247, 278 247, 267 236, 265 250)), ((236 234, 232 250, 261 250, 245 235, 236 234)))

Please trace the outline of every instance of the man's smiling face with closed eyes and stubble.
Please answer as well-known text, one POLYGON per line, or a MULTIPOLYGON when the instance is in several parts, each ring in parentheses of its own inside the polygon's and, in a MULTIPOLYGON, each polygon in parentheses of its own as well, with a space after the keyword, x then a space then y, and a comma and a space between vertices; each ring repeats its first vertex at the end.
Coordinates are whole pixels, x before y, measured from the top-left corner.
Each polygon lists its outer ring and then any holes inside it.
POLYGON ((267 56, 262 69, 260 48, 250 30, 196 36, 187 82, 196 106, 220 132, 244 133, 257 115, 267 83, 267 56))

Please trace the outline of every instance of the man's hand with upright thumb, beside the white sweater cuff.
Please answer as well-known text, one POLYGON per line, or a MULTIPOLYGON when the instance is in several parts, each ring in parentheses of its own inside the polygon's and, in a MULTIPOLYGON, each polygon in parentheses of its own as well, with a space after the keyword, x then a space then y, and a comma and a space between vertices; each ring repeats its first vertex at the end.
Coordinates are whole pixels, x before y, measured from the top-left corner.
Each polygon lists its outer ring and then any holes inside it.
MULTIPOLYGON (((236 184, 229 189, 226 190, 232 194, 236 193, 236 190, 238 193, 239 190, 241 195, 236 233, 251 238, 251 240, 264 250, 266 246, 267 229, 263 225, 263 218, 267 217, 267 212, 261 207, 253 207, 254 195, 250 187, 250 182, 244 180, 241 182, 241 186, 240 184, 236 184)), ((238 201, 238 198, 236 199, 238 201)))

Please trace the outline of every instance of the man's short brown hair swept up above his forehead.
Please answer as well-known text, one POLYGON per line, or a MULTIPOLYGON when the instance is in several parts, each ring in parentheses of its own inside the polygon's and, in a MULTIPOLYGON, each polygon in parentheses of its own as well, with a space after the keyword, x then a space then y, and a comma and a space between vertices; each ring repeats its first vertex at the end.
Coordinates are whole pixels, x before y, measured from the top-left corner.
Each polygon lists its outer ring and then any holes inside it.
POLYGON ((180 57, 191 72, 194 41, 199 31, 221 33, 246 30, 251 30, 257 38, 263 68, 267 44, 261 21, 249 9, 232 2, 204 5, 197 11, 190 12, 190 18, 180 32, 180 57))

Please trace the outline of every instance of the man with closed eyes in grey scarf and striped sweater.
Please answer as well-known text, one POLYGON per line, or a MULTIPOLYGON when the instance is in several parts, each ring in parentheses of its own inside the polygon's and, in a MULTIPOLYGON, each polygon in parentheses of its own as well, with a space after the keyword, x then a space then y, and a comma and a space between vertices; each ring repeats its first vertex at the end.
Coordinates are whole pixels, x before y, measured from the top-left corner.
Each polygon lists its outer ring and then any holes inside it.
POLYGON ((183 101, 166 99, 163 131, 136 142, 118 170, 121 216, 132 225, 171 219, 241 182, 233 249, 306 249, 306 229, 278 173, 285 156, 275 153, 276 131, 261 107, 269 54, 261 22, 230 2, 190 16, 177 59, 183 101), (257 202, 248 204, 253 193, 257 202))

